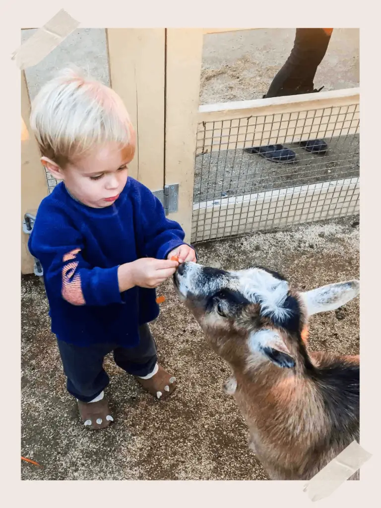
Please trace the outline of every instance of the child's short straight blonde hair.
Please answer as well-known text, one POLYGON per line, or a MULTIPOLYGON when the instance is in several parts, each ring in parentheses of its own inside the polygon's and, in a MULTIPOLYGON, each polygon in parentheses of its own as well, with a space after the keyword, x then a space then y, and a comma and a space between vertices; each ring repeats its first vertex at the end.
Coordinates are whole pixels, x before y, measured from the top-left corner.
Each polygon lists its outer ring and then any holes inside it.
POLYGON ((63 69, 39 91, 30 126, 41 154, 61 168, 109 142, 134 150, 133 126, 114 90, 75 68, 63 69))

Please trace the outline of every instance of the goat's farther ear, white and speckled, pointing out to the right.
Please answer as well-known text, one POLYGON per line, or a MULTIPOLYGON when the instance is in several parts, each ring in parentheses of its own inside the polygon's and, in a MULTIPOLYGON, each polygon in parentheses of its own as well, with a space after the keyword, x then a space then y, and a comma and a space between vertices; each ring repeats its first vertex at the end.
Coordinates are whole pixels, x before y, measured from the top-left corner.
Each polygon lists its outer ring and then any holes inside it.
POLYGON ((348 282, 328 284, 322 288, 300 293, 299 295, 308 315, 312 315, 318 312, 335 310, 356 298, 359 293, 360 282, 358 280, 349 280, 348 282))

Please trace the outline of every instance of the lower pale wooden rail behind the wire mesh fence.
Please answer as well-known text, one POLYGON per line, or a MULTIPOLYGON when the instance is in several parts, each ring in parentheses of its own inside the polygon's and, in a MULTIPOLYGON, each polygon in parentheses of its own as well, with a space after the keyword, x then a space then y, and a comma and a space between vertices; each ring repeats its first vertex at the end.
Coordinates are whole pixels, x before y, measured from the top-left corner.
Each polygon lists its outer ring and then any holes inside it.
POLYGON ((353 177, 195 204, 192 242, 353 215, 359 191, 353 177))

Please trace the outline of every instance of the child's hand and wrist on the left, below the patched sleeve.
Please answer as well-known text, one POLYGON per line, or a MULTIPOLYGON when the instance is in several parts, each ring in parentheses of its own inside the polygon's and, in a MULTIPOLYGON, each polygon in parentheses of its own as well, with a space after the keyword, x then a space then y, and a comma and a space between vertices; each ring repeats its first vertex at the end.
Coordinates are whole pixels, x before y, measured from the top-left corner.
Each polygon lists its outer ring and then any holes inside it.
POLYGON ((142 258, 132 263, 119 266, 119 291, 126 291, 134 286, 140 288, 157 288, 171 277, 179 266, 177 261, 142 258))

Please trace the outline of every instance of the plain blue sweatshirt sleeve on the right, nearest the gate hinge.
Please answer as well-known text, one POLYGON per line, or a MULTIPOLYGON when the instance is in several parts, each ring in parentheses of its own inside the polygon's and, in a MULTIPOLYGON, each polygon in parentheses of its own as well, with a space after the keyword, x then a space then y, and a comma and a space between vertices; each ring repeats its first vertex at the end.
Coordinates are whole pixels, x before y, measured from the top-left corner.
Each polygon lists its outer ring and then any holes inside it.
POLYGON ((151 191, 139 186, 145 255, 166 259, 171 250, 184 244, 185 233, 174 220, 166 217, 163 205, 151 191))

